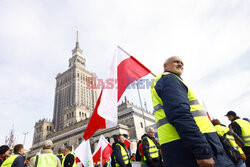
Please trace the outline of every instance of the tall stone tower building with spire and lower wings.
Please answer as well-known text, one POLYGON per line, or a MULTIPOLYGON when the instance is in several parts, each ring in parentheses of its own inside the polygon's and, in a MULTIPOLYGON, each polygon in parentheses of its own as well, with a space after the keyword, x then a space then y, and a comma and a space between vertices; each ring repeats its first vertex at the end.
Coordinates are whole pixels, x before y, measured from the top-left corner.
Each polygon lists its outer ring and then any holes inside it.
MULTIPOLYGON (((30 155, 39 152, 47 139, 53 141, 55 153, 65 145, 77 148, 81 143, 97 101, 97 89, 87 88, 88 77, 97 78, 95 73, 86 70, 86 59, 79 47, 77 34, 68 69, 56 76, 53 120, 41 119, 35 123, 30 155)), ((154 126, 154 116, 133 105, 125 97, 118 106, 118 125, 98 130, 90 138, 92 150, 100 135, 104 135, 111 144, 118 134, 124 134, 131 141, 140 139, 145 133, 145 123, 147 127, 154 126)))

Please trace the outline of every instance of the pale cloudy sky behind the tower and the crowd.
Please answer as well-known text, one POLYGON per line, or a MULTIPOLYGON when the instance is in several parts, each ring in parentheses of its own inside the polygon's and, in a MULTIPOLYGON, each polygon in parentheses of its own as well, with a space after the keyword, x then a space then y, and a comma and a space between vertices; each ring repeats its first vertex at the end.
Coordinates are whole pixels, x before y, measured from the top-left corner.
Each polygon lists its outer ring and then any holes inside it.
MULTIPOLYGON (((55 77, 68 68, 79 31, 86 68, 105 79, 116 46, 154 74, 170 56, 184 61, 185 83, 224 124, 234 110, 250 118, 248 0, 1 0, 0 145, 32 145, 35 122, 52 119, 55 77)), ((145 77, 152 79, 151 75, 145 77)), ((135 90, 127 99, 140 105, 135 90)), ((152 111, 149 89, 140 90, 152 111)))

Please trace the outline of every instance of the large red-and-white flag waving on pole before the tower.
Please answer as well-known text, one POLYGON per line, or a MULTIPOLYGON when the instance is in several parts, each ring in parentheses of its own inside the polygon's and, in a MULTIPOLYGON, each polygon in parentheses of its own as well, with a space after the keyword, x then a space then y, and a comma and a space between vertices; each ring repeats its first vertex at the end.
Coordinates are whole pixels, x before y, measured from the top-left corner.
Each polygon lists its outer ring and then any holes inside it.
POLYGON ((85 130, 83 136, 85 140, 89 139, 98 129, 111 128, 117 125, 117 103, 122 94, 128 85, 149 73, 148 68, 121 47, 117 47, 106 84, 100 93, 85 130))

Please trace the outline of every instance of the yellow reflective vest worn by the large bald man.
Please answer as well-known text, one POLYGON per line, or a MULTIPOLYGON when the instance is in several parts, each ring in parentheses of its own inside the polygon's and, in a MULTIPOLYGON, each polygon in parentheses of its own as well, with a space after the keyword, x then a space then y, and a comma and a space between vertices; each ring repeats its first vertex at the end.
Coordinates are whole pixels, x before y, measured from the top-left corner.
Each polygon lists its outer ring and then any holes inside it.
POLYGON ((174 75, 178 78, 188 89, 187 97, 190 105, 190 112, 194 117, 194 120, 199 127, 202 133, 211 133, 215 132, 214 126, 210 122, 207 117, 206 112, 204 111, 202 105, 199 104, 198 99, 196 98, 193 91, 175 74, 165 72, 159 76, 157 76, 153 82, 151 88, 151 95, 152 95, 152 102, 154 106, 154 115, 155 115, 155 122, 157 125, 157 132, 159 135, 159 142, 160 144, 168 143, 174 140, 180 139, 175 127, 170 124, 167 120, 165 115, 165 111, 163 109, 163 102, 162 99, 158 96, 155 85, 157 84, 158 80, 165 75, 174 75))

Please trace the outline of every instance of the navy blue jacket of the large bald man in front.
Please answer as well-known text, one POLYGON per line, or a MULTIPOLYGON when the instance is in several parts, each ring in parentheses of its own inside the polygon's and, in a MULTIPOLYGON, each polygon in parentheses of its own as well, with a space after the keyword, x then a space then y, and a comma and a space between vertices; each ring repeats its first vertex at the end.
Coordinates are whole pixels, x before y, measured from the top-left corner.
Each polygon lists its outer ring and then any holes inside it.
POLYGON ((175 75, 163 76, 157 82, 155 90, 163 101, 168 122, 176 128, 181 138, 161 146, 164 161, 170 167, 183 166, 183 164, 186 167, 195 167, 196 159, 211 157, 216 162, 215 166, 233 165, 226 156, 217 133, 200 132, 190 112, 188 88, 175 75))

